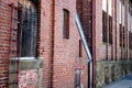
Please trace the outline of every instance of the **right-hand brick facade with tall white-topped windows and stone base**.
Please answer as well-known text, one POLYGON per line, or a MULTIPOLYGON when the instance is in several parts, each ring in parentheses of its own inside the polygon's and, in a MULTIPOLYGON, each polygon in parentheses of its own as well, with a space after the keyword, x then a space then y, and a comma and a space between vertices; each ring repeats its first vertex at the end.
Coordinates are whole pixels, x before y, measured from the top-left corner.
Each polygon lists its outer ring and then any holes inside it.
POLYGON ((132 72, 131 2, 97 0, 96 14, 96 78, 101 87, 132 72))

